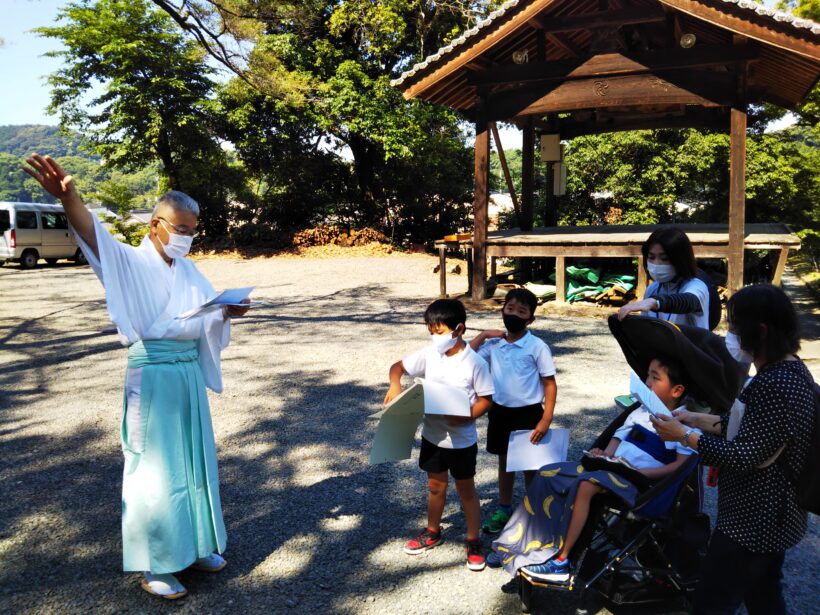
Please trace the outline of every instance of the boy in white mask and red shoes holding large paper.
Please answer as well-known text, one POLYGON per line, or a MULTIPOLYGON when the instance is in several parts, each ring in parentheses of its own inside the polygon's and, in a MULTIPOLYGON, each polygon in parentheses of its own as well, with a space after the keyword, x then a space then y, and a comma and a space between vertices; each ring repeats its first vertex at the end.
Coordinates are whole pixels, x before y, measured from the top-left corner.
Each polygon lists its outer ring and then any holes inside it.
POLYGON ((481 505, 475 489, 478 434, 475 419, 490 408, 493 380, 490 368, 461 336, 467 313, 460 301, 439 299, 424 312, 424 322, 432 344, 397 361, 390 368, 387 404, 401 393, 401 377, 423 376, 462 389, 471 405, 471 418, 424 415, 421 429, 419 467, 427 472, 427 526, 405 544, 410 555, 422 553, 441 543, 441 516, 447 500, 448 472, 456 483, 467 522, 467 567, 483 570, 484 553, 479 538, 481 505))

